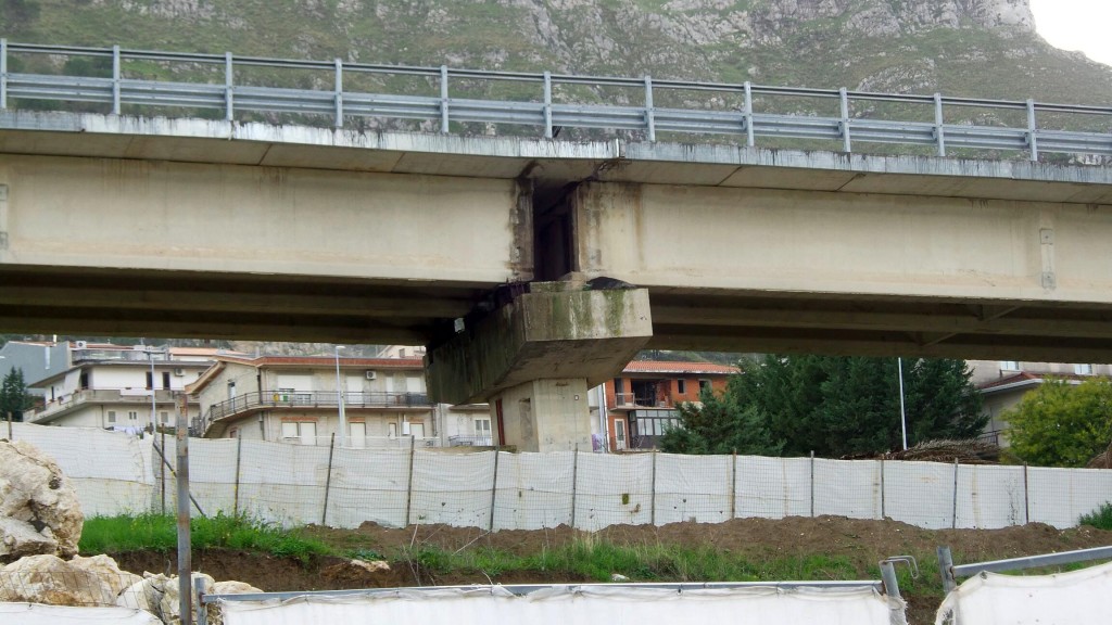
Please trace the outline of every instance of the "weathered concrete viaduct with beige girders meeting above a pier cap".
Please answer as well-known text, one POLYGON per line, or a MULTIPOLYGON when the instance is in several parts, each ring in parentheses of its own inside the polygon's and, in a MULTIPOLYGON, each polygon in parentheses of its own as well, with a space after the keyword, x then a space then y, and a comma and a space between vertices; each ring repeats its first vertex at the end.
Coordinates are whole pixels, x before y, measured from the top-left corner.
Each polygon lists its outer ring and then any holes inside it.
POLYGON ((1106 167, 0 113, 7 331, 427 344, 507 414, 646 345, 1110 361, 1110 241, 1106 167))

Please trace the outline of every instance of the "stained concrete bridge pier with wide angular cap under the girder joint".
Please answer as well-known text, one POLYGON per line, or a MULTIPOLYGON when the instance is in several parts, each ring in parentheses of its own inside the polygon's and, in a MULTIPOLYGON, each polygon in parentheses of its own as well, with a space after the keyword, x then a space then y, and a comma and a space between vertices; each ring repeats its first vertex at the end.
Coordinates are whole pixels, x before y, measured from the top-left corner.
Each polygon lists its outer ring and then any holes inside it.
POLYGON ((489 401, 500 445, 520 452, 590 444, 587 390, 614 377, 653 334, 648 290, 582 278, 533 282, 428 349, 435 401, 489 401), (624 288, 622 288, 624 287, 624 288))

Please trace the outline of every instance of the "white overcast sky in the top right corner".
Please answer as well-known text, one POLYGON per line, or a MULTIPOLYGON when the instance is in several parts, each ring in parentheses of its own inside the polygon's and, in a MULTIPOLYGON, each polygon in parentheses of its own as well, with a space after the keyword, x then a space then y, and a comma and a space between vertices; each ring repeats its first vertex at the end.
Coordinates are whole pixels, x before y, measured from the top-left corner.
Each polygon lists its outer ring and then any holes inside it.
POLYGON ((1031 12, 1051 46, 1112 66, 1112 0, 1031 0, 1031 12))

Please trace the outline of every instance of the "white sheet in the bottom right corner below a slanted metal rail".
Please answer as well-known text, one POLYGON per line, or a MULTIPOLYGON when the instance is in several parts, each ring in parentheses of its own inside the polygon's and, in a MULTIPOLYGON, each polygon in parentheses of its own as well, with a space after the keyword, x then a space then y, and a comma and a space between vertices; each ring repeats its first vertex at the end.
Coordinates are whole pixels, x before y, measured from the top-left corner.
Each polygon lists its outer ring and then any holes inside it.
POLYGON ((983 573, 952 591, 935 625, 1065 625, 1112 621, 1112 563, 1054 575, 983 573))

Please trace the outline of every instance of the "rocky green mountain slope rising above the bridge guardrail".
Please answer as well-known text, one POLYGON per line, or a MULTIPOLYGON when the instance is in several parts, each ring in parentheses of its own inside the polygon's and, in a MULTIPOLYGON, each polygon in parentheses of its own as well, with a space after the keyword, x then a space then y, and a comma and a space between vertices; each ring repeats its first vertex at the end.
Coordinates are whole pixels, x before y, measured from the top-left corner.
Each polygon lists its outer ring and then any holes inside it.
POLYGON ((1106 103, 1027 0, 0 0, 11 41, 1106 103))

